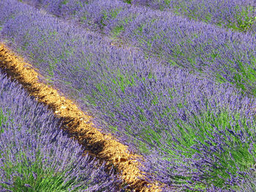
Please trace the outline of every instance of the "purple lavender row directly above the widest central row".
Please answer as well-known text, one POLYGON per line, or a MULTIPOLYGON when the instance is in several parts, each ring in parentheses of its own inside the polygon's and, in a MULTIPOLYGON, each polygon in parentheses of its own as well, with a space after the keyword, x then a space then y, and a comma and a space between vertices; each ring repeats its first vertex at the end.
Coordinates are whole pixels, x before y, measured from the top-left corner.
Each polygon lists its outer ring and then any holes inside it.
MULTIPOLYGON (((256 94, 256 39, 252 34, 226 31, 171 12, 135 7, 118 0, 87 4, 26 1, 84 28, 107 34, 114 41, 139 47, 146 57, 157 57, 164 64, 192 69, 201 76, 256 94)), ((256 28, 256 23, 252 28, 256 28)))

